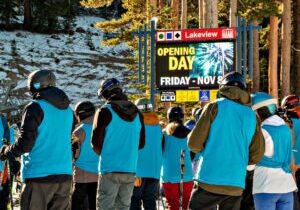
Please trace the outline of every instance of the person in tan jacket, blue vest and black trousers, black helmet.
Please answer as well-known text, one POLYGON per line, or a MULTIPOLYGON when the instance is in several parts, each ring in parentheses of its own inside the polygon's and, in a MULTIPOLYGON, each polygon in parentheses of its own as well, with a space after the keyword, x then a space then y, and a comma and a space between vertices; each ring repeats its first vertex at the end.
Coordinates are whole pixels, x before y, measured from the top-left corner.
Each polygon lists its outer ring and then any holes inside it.
POLYGON ((78 102, 74 109, 78 121, 72 134, 74 161, 72 210, 96 210, 98 161, 91 147, 95 106, 90 101, 78 102), (85 200, 88 205, 85 206, 85 200))

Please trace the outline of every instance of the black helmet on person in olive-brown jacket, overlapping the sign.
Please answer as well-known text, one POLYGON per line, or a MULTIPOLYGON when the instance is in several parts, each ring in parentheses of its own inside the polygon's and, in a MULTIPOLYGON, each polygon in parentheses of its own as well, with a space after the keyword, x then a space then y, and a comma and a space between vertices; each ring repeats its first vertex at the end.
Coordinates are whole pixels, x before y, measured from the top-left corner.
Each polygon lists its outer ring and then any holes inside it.
POLYGON ((243 75, 239 72, 230 72, 226 75, 224 75, 221 83, 220 88, 224 86, 235 86, 239 87, 243 90, 247 88, 246 81, 243 77, 243 75))

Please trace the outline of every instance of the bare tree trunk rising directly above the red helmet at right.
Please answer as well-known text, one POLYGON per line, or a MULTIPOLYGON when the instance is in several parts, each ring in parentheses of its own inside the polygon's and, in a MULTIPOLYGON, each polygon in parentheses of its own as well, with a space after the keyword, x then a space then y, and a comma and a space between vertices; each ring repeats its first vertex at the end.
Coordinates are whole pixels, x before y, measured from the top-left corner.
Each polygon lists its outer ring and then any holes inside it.
POLYGON ((291 0, 283 0, 281 43, 281 96, 290 93, 291 68, 291 0))

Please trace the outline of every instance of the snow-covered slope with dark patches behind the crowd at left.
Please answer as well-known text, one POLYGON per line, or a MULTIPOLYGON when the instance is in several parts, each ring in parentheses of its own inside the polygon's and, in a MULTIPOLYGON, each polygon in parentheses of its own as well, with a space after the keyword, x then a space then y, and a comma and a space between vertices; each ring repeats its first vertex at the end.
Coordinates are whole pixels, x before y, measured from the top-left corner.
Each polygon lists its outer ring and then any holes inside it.
MULTIPOLYGON (((128 63, 125 55, 130 55, 126 45, 100 45, 103 33, 92 25, 102 20, 77 17, 74 28, 79 32, 74 35, 0 31, 0 80, 18 81, 15 89, 20 89, 26 87, 31 71, 54 70, 58 86, 67 92, 72 105, 79 100, 98 102, 96 92, 104 78, 116 77, 127 92, 135 92, 126 77, 135 74, 125 66, 128 63)), ((29 98, 28 93, 24 96, 29 98)))

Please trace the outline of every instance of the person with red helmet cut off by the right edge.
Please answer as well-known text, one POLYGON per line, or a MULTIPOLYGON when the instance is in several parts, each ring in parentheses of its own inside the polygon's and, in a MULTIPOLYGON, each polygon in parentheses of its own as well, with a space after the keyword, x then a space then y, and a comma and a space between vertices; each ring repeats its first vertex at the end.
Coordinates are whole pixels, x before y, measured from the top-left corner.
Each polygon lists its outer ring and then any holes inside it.
MULTIPOLYGON (((294 134, 293 156, 295 162, 295 178, 298 189, 300 188, 300 100, 295 94, 284 97, 281 101, 281 108, 288 120, 294 134)), ((294 209, 300 209, 300 191, 294 193, 294 209)))

